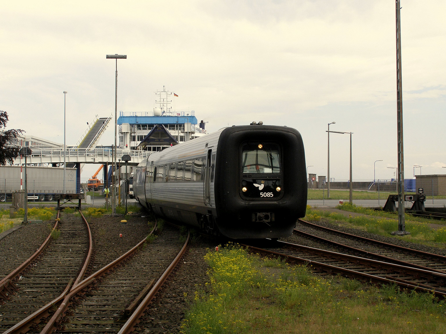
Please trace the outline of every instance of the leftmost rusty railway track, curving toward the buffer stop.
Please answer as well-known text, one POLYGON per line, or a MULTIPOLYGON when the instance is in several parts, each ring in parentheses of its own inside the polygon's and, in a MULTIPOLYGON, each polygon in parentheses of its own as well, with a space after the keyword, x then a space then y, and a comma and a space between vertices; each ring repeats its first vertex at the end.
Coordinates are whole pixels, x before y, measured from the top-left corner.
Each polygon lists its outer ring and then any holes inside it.
MULTIPOLYGON (((87 220, 82 215, 64 215, 60 222, 58 219, 54 227, 60 229, 58 239, 50 243, 50 233, 32 257, 0 281, 4 289, 0 332, 8 332, 82 279, 91 255, 87 220)), ((34 319, 39 321, 46 315, 44 312, 34 319)))

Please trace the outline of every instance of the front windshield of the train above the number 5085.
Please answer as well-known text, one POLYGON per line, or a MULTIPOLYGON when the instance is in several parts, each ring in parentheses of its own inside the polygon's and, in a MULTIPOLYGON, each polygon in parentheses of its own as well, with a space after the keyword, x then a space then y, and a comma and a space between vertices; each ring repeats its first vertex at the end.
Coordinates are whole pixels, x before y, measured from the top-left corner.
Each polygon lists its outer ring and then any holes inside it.
POLYGON ((243 173, 280 173, 280 154, 277 144, 244 144, 242 147, 243 173))

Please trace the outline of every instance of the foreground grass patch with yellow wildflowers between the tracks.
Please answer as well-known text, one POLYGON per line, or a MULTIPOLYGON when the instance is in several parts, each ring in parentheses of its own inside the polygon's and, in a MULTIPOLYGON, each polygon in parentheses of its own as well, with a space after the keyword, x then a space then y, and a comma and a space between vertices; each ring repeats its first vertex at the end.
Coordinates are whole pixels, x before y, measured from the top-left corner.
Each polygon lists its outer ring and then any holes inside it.
POLYGON ((446 307, 432 294, 322 278, 231 245, 205 259, 210 282, 195 292, 184 334, 446 331, 446 307))

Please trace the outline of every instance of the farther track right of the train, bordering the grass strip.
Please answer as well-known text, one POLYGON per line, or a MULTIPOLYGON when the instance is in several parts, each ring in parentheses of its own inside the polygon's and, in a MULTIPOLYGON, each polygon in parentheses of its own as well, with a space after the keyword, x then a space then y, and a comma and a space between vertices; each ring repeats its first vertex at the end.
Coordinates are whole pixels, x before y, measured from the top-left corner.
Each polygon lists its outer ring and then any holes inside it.
POLYGON ((293 234, 293 242, 299 244, 320 247, 322 242, 349 254, 446 273, 446 257, 442 255, 355 236, 304 220, 298 220, 293 234))

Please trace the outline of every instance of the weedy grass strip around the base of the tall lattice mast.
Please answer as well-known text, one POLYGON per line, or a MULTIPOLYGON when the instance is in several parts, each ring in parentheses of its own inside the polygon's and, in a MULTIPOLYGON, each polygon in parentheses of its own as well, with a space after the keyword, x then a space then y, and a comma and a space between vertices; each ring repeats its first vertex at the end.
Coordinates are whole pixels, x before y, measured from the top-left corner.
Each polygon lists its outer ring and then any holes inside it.
MULTIPOLYGON (((344 204, 341 208, 347 208, 349 206, 350 204, 347 206, 344 204)), ((363 211, 365 214, 380 214, 379 212, 369 212, 368 210, 370 209, 356 206, 350 206, 349 208, 355 208, 358 211, 363 211)), ((381 212, 381 214, 392 215, 384 212, 381 212)), ((343 213, 316 210, 307 205, 304 220, 318 222, 322 219, 338 226, 360 228, 370 233, 401 239, 401 236, 391 235, 392 232, 398 230, 398 220, 394 214, 392 218, 388 218, 387 216, 346 216, 343 213)), ((444 248, 446 246, 446 226, 433 229, 429 226, 430 222, 432 221, 426 219, 414 219, 414 217, 406 215, 406 231, 411 234, 404 236, 404 240, 444 248)))

